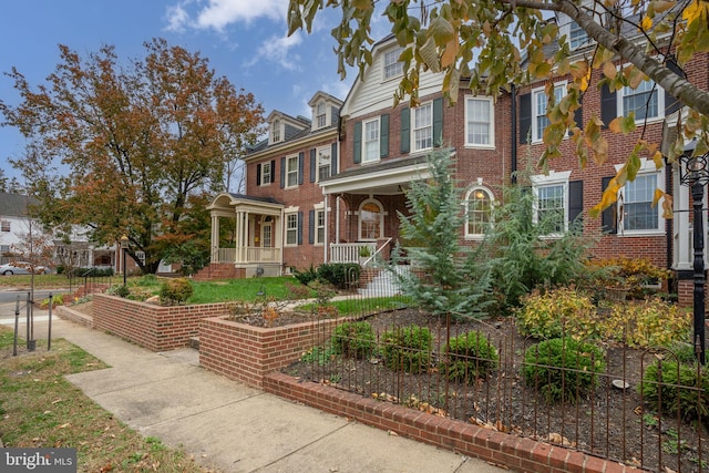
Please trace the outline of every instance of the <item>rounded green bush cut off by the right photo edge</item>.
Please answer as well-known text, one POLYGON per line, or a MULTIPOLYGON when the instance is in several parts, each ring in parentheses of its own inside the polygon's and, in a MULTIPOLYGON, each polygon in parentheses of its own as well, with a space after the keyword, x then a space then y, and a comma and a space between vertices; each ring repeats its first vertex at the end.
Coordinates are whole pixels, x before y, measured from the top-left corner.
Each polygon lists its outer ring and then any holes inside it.
POLYGON ((709 372, 702 368, 698 377, 696 362, 658 360, 645 370, 638 391, 649 408, 665 414, 686 420, 709 415, 709 372))

